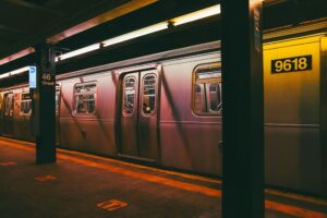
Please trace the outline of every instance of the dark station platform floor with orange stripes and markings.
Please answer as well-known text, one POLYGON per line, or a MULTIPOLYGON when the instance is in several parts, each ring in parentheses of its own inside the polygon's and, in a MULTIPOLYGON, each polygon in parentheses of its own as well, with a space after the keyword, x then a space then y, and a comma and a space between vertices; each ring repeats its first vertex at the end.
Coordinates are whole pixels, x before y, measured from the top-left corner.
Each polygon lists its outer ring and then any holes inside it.
MULTIPOLYGON (((0 137, 0 217, 221 217, 221 181, 0 137)), ((323 198, 266 190, 266 218, 327 218, 323 198)), ((237 208, 235 208, 237 209, 237 208)))

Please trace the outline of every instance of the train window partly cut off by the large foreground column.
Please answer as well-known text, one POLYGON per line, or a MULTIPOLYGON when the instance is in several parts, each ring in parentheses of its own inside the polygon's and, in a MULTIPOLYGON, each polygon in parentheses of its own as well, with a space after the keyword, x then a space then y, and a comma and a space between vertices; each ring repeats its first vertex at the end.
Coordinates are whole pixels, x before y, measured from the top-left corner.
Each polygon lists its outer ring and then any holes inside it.
POLYGON ((221 114, 220 63, 199 65, 194 71, 193 111, 196 114, 221 114))

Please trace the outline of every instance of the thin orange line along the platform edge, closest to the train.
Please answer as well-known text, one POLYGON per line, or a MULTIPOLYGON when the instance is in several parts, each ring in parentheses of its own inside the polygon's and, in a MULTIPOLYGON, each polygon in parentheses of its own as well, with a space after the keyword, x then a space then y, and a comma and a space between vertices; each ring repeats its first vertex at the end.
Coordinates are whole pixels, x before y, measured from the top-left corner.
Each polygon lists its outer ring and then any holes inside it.
MULTIPOLYGON (((26 143, 28 145, 35 146, 35 143, 17 141, 17 140, 7 138, 7 137, 0 137, 0 140, 2 140, 2 138, 5 140, 5 141, 11 141, 13 143, 20 143, 22 145, 24 145, 26 143)), ((183 172, 162 170, 162 169, 158 169, 158 168, 153 168, 153 167, 132 164, 132 162, 125 162, 125 161, 121 161, 121 160, 117 160, 117 159, 112 159, 112 158, 108 158, 108 157, 100 157, 100 156, 97 156, 97 155, 81 153, 81 152, 76 152, 76 150, 66 150, 66 149, 61 149, 61 148, 57 148, 57 150, 59 150, 61 153, 65 153, 65 154, 73 154, 73 155, 89 157, 89 158, 94 158, 94 159, 98 159, 98 160, 105 160, 105 161, 108 161, 108 162, 113 162, 113 164, 119 164, 119 165, 124 165, 124 166, 130 166, 130 167, 136 167, 136 168, 145 169, 145 170, 152 170, 152 171, 155 171, 155 172, 161 172, 161 173, 166 173, 166 174, 178 175, 178 177, 181 177, 181 178, 198 180, 198 181, 203 181, 203 182, 210 182, 210 183, 215 183, 215 184, 221 184, 221 180, 218 180, 218 179, 210 179, 210 178, 195 175, 195 174, 187 174, 187 173, 183 173, 183 172)))

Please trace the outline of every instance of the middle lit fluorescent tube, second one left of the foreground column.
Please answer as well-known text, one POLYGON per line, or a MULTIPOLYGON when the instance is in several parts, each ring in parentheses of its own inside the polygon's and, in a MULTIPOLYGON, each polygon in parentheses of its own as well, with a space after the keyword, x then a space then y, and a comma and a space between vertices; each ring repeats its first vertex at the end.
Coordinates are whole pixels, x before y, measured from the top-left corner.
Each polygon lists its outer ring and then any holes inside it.
POLYGON ((126 41, 126 40, 137 38, 137 37, 141 37, 141 36, 144 36, 144 35, 156 33, 156 32, 159 32, 159 31, 164 31, 166 28, 168 28, 168 23, 167 22, 158 23, 158 24, 145 27, 145 28, 141 28, 141 29, 137 29, 137 31, 134 31, 134 32, 131 32, 131 33, 128 33, 128 34, 124 34, 124 35, 121 35, 121 36, 117 36, 117 37, 110 38, 108 40, 105 40, 105 41, 102 41, 102 46, 104 47, 112 46, 114 44, 126 41))

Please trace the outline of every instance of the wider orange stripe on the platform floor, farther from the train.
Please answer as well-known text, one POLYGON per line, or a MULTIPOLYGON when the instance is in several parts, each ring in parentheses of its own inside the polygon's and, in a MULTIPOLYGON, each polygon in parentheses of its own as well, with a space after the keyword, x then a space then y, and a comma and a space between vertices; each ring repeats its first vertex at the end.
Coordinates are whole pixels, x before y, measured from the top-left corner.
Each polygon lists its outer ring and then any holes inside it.
MULTIPOLYGON (((5 144, 8 146, 11 146, 11 147, 15 147, 15 148, 20 148, 20 149, 24 149, 24 150, 28 150, 28 152, 35 152, 34 147, 26 147, 24 145, 15 145, 15 144, 12 144, 9 142, 1 142, 1 143, 5 144)), ((105 170, 108 170, 111 172, 117 172, 119 174, 124 174, 128 177, 146 180, 146 181, 154 182, 154 183, 166 184, 169 186, 173 186, 177 189, 191 191, 191 192, 198 192, 198 193, 202 193, 202 194, 208 195, 208 196, 221 197, 220 190, 214 190, 214 189, 205 187, 202 185, 194 185, 194 184, 190 184, 190 183, 185 183, 185 182, 179 182, 179 181, 174 181, 171 179, 160 178, 157 175, 149 175, 146 173, 134 172, 134 171, 125 170, 125 169, 118 168, 118 167, 111 167, 111 166, 107 166, 104 164, 93 162, 90 160, 84 160, 84 159, 76 158, 76 157, 69 157, 66 155, 59 154, 58 157, 63 160, 71 160, 73 162, 77 162, 81 165, 95 167, 98 169, 105 169, 105 170), (143 177, 138 177, 140 174, 142 174, 143 177), (185 185, 185 186, 183 186, 183 185, 185 185)), ((280 213, 295 216, 295 217, 327 218, 327 214, 324 214, 324 213, 319 213, 319 211, 315 211, 315 210, 311 210, 311 209, 303 209, 301 207, 280 204, 280 203, 276 203, 276 202, 267 201, 267 199, 265 201, 265 208, 270 209, 270 210, 280 211, 280 213)))

